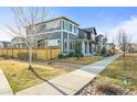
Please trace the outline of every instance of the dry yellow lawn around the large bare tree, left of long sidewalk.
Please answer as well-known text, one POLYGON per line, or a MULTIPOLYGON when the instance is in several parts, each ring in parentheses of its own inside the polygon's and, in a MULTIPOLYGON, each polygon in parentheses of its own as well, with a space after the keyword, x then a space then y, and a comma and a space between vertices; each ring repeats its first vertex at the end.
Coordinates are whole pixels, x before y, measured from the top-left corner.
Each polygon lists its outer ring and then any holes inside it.
MULTIPOLYGON (((28 70, 27 63, 0 60, 0 68, 3 70, 14 93, 44 81, 38 78, 32 71, 28 70)), ((36 65, 33 66, 33 69, 41 78, 45 80, 68 72, 54 67, 43 67, 36 65)))

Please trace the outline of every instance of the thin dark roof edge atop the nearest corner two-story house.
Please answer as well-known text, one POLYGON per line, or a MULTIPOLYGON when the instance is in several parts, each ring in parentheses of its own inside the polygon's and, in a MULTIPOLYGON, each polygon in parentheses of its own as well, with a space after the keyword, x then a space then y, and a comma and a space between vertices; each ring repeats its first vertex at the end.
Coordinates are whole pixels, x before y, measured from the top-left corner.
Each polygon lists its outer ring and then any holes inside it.
POLYGON ((48 22, 51 22, 51 21, 55 21, 55 20, 60 20, 60 19, 64 19, 64 20, 67 20, 74 24, 76 24, 77 26, 80 25, 78 23, 76 23, 75 21, 72 21, 71 19, 66 18, 66 16, 59 16, 59 18, 53 18, 53 19, 50 19, 50 20, 46 20, 44 22, 40 22, 40 23, 36 23, 35 25, 39 25, 41 23, 48 23, 48 22))

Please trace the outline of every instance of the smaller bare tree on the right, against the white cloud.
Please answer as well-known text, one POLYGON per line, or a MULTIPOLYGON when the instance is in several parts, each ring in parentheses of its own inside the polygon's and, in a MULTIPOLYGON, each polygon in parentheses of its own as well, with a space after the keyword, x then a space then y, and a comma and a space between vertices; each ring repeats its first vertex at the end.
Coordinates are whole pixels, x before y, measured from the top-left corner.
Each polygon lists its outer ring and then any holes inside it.
POLYGON ((128 49, 128 45, 130 44, 131 36, 129 34, 126 34, 125 31, 120 29, 117 39, 118 39, 118 46, 124 52, 123 56, 125 58, 125 54, 126 50, 128 49))

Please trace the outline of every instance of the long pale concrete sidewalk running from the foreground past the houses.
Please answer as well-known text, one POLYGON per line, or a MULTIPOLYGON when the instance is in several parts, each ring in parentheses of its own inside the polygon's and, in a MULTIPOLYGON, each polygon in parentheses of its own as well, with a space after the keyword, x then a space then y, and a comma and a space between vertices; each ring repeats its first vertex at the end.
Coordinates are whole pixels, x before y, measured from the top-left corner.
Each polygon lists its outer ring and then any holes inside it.
POLYGON ((119 55, 108 57, 75 71, 18 92, 18 95, 72 95, 91 82, 119 55))

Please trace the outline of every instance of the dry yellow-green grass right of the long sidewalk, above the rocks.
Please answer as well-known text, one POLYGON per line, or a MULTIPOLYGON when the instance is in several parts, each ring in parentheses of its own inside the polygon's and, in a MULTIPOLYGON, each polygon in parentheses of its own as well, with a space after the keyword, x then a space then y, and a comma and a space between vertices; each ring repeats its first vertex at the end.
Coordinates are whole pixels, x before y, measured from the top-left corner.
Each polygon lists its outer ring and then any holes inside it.
POLYGON ((125 60, 123 56, 120 56, 103 70, 96 80, 104 78, 108 78, 112 82, 124 88, 137 90, 137 54, 126 54, 125 60), (125 78, 130 80, 129 84, 124 83, 125 78))

